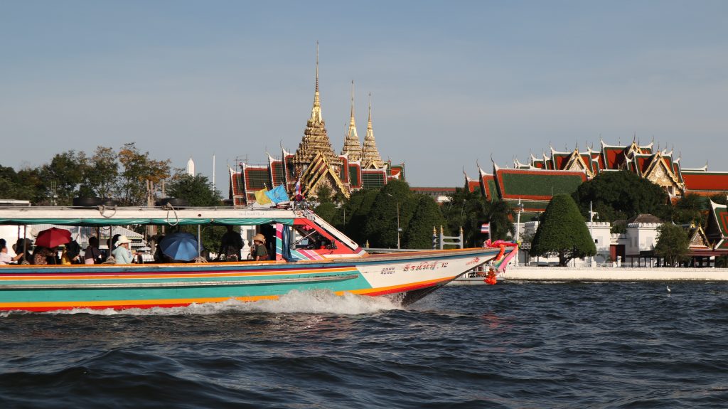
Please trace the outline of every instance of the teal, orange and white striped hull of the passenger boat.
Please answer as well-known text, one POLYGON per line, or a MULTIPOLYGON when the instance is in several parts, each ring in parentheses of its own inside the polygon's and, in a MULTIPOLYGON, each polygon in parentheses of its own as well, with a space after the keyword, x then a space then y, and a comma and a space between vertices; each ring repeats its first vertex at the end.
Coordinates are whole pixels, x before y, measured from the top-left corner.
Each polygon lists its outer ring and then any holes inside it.
POLYGON ((291 290, 392 295, 407 304, 497 253, 486 248, 297 263, 5 266, 0 311, 189 306, 275 299, 291 290))

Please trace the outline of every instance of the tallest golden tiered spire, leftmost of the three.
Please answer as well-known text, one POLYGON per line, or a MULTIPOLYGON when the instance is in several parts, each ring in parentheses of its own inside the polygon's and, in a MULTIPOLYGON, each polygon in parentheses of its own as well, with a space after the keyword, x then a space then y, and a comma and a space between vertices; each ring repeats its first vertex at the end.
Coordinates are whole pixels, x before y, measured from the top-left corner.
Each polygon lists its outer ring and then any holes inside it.
POLYGON ((293 164, 296 164, 297 172, 308 166, 317 153, 321 153, 331 166, 341 166, 341 158, 331 148, 331 141, 328 139, 326 124, 321 115, 321 100, 318 84, 318 41, 316 42, 316 90, 314 91, 314 106, 311 109, 311 118, 306 123, 304 138, 298 145, 296 154, 293 155, 293 164))

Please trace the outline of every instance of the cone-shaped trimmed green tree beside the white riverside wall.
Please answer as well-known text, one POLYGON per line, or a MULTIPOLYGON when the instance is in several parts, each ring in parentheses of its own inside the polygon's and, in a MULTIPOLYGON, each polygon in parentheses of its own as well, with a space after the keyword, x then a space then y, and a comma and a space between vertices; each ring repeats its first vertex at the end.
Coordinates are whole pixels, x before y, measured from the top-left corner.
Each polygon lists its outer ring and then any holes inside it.
POLYGON ((531 254, 558 255, 559 266, 566 266, 573 258, 596 255, 596 245, 571 196, 553 196, 531 242, 531 254))

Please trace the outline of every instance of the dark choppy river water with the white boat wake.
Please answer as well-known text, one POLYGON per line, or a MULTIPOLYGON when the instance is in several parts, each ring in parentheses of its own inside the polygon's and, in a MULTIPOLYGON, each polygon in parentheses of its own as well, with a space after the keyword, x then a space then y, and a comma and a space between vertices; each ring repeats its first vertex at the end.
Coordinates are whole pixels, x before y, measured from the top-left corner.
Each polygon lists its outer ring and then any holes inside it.
POLYGON ((728 408, 728 284, 0 317, 0 408, 728 408))

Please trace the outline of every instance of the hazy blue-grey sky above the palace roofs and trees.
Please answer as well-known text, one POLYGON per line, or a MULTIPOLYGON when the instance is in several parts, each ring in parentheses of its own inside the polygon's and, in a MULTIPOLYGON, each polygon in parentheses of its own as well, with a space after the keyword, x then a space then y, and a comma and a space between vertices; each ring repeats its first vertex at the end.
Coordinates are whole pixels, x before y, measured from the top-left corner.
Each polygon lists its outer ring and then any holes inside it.
POLYGON ((542 152, 644 144, 728 171, 727 1, 0 0, 0 164, 134 142, 228 190, 296 151, 313 103, 336 153, 355 82, 382 159, 463 186, 542 152))

